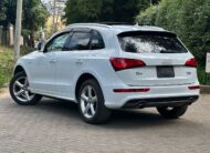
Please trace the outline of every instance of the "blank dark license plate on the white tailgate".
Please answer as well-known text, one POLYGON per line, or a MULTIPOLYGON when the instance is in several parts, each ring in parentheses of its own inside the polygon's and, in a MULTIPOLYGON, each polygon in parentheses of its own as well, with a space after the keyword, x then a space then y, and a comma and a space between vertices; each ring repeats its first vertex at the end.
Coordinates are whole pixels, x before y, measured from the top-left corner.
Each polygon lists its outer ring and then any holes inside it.
POLYGON ((175 78, 174 67, 157 67, 158 78, 175 78))

